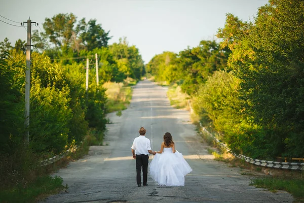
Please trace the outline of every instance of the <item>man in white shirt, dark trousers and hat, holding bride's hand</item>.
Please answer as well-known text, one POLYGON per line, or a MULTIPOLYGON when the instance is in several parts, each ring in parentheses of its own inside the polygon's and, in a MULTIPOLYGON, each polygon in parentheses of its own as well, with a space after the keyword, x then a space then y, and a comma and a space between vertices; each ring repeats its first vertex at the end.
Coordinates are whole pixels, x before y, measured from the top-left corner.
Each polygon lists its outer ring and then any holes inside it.
POLYGON ((149 162, 149 155, 156 153, 151 150, 150 140, 144 137, 146 130, 141 127, 139 129, 140 136, 135 138, 133 141, 133 145, 131 147, 133 158, 136 160, 136 181, 137 187, 141 186, 141 166, 142 166, 142 175, 143 175, 143 186, 147 186, 147 176, 148 176, 148 162, 149 162))

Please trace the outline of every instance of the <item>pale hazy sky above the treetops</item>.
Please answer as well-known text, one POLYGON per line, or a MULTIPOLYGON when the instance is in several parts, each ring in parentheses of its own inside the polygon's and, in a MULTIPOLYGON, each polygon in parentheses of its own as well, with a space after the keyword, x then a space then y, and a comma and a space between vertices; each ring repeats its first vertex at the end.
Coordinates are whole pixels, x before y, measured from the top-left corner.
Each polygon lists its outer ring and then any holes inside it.
MULTIPOLYGON (((58 13, 73 13, 77 19, 96 19, 112 36, 109 44, 126 37, 145 63, 164 51, 178 53, 196 47, 201 40, 218 40, 215 35, 232 13, 244 21, 253 20, 267 0, 0 0, 0 15, 23 22, 42 24, 58 13)), ((0 17, 0 20, 11 22, 0 17)), ((39 27, 32 26, 33 29, 39 27)), ((0 21, 0 42, 14 45, 26 40, 26 30, 0 21)))

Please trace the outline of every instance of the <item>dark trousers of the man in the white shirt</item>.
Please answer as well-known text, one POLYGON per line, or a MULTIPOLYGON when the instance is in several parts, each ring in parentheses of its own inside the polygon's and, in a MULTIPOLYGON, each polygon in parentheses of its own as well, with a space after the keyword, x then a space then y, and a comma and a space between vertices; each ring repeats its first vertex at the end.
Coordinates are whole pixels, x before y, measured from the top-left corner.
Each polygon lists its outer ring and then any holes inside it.
POLYGON ((141 185, 141 166, 142 166, 142 176, 143 176, 143 185, 147 184, 147 177, 148 177, 148 162, 149 162, 149 155, 144 154, 136 154, 136 181, 137 185, 141 185))

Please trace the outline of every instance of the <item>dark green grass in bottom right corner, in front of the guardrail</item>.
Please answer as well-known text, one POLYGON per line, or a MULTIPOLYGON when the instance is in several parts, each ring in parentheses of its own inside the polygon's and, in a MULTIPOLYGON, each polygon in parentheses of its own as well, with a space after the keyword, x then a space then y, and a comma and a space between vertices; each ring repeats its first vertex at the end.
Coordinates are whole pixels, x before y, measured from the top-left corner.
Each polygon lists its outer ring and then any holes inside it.
POLYGON ((304 201, 304 179, 263 177, 252 179, 250 185, 258 188, 267 188, 273 192, 285 190, 296 198, 295 202, 304 201))

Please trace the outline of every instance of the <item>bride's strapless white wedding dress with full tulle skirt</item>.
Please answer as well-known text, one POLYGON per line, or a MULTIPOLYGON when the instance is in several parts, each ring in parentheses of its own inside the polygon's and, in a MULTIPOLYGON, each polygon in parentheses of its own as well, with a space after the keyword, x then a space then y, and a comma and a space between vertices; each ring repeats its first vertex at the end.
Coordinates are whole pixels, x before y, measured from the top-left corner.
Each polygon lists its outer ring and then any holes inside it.
POLYGON ((184 176, 192 168, 182 154, 172 148, 164 148, 162 154, 156 154, 149 165, 150 176, 161 186, 184 186, 184 176))

